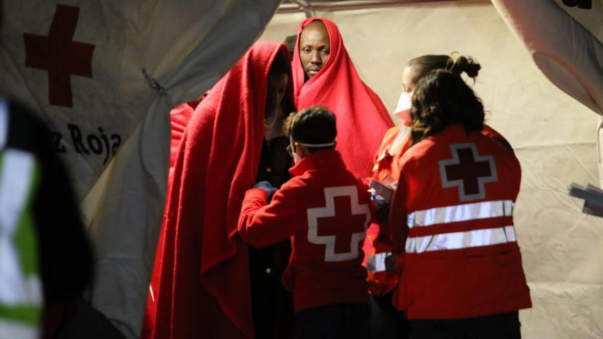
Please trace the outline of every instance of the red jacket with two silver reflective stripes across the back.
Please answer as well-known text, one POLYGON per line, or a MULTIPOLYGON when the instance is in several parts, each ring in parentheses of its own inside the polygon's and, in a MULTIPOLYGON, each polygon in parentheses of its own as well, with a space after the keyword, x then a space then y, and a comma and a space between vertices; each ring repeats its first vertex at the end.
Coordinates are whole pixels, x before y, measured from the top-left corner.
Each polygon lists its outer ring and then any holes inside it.
POLYGON ((408 318, 531 307, 513 227, 521 181, 515 155, 452 125, 408 149, 399 166, 390 227, 406 252, 397 304, 408 318))

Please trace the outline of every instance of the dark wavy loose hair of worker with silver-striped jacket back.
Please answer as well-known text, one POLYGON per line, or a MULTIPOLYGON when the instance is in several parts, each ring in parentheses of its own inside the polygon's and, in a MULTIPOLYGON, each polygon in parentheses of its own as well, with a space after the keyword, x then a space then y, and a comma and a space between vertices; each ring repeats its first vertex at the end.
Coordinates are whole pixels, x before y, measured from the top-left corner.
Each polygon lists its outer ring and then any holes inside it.
POLYGON ((484 129, 484 105, 458 74, 438 69, 419 80, 410 108, 413 145, 452 124, 469 131, 484 129))

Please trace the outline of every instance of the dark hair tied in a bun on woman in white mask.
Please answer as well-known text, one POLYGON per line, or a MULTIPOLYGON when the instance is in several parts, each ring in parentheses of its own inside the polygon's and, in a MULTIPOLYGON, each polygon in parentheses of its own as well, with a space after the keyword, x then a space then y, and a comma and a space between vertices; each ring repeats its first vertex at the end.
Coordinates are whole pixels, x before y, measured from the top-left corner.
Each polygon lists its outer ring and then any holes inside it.
POLYGON ((413 84, 417 84, 419 80, 424 77, 427 73, 435 71, 436 69, 445 69, 454 74, 467 74, 468 77, 475 81, 476 77, 482 66, 478 64, 473 58, 460 55, 456 60, 452 58, 456 52, 450 53, 450 55, 421 55, 420 57, 414 58, 406 64, 407 67, 413 68, 413 84))

